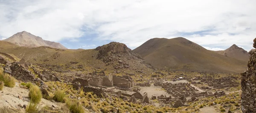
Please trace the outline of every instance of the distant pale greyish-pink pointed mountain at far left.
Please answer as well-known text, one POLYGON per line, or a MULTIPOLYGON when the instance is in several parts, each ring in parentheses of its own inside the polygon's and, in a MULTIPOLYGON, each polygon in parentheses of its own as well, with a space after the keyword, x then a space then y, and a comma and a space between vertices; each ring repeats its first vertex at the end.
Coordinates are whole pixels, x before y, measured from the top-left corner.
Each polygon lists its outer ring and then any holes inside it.
POLYGON ((8 39, 4 39, 3 41, 8 41, 13 44, 17 44, 18 46, 27 46, 27 47, 48 46, 48 47, 53 47, 58 49, 67 49, 60 43, 43 40, 41 37, 32 35, 31 33, 28 33, 26 31, 16 33, 13 36, 9 37, 8 39))

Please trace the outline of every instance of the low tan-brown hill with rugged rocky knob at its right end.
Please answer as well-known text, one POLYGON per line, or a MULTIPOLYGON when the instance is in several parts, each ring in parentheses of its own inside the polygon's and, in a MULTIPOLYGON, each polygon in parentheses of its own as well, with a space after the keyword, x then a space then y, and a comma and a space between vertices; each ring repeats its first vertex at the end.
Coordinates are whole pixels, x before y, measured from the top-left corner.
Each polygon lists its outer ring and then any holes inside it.
POLYGON ((61 75, 74 76, 76 72, 84 74, 93 71, 106 75, 151 74, 153 67, 146 63, 140 55, 134 53, 125 44, 111 42, 90 50, 61 50, 51 47, 5 47, 0 52, 24 58, 38 69, 50 70, 61 75))

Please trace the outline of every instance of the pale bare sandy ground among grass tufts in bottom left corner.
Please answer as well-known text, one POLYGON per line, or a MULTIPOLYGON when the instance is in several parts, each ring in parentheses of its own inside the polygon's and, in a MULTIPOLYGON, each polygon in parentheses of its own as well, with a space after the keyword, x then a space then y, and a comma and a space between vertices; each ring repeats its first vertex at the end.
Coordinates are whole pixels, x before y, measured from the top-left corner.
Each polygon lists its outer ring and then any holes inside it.
MULTIPOLYGON (((18 83, 16 83, 16 86, 14 88, 8 88, 4 87, 3 91, 0 91, 0 107, 2 106, 9 106, 15 109, 18 109, 20 111, 25 111, 24 109, 21 109, 18 105, 28 105, 29 101, 29 89, 20 88, 18 86, 18 83), (18 98, 18 96, 22 96, 23 98, 27 98, 25 100, 18 98)), ((57 103, 51 102, 46 99, 41 99, 41 102, 39 103, 39 106, 43 107, 45 105, 57 105, 57 103)))

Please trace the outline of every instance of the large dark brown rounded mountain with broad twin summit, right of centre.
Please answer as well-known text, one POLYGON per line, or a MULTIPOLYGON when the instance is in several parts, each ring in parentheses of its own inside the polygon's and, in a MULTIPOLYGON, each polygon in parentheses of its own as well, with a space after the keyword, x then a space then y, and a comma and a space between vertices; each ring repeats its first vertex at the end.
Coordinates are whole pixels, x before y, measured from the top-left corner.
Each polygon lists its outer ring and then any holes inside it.
POLYGON ((246 61, 226 57, 185 38, 154 38, 133 50, 156 68, 180 71, 238 73, 246 61))

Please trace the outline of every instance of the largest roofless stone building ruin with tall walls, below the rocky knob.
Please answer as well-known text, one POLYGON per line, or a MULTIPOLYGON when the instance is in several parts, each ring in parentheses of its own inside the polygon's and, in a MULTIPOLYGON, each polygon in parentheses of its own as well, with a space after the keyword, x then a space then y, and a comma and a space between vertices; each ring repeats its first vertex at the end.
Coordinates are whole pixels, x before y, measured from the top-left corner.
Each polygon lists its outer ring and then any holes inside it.
POLYGON ((83 76, 76 77, 72 81, 73 87, 79 89, 84 86, 94 86, 101 88, 108 88, 115 86, 116 88, 127 90, 134 86, 134 80, 128 75, 123 76, 112 76, 108 77, 94 77, 94 76, 83 76))

